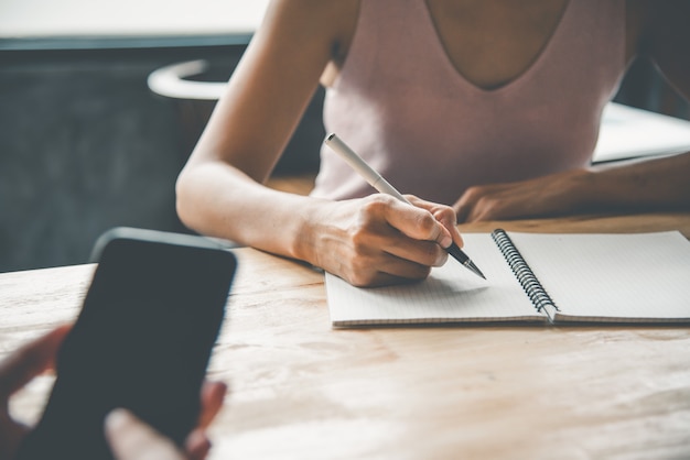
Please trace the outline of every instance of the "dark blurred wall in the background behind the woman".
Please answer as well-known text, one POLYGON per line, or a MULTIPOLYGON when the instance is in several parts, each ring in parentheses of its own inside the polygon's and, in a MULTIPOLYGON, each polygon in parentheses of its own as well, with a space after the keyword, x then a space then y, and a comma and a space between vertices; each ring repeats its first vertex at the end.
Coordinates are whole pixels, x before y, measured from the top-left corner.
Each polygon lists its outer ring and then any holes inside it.
MULTIPOLYGON (((206 59, 231 74, 246 40, 60 46, 0 40, 0 272, 85 263, 115 226, 185 231, 174 182, 212 101, 154 94, 155 69, 206 59)), ((277 174, 316 169, 319 92, 277 174)), ((654 67, 635 63, 616 101, 689 117, 654 67)))

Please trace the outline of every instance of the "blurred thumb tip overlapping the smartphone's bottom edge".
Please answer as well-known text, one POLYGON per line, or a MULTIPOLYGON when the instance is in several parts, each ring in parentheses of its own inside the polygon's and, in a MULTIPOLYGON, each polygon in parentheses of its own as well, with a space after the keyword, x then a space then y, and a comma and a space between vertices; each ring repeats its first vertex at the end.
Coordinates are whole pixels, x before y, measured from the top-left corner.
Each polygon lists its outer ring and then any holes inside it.
POLYGON ((106 439, 118 460, 183 460, 175 445, 126 409, 106 417, 106 439))

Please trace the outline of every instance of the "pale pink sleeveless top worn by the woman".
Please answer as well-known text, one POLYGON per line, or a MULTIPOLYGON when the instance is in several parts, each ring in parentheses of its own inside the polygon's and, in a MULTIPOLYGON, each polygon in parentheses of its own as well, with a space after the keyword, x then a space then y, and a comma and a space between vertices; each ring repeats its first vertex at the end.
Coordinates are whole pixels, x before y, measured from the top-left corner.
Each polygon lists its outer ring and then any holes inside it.
MULTIPOLYGON (((424 0, 363 0, 324 124, 401 193, 452 205, 472 185, 587 165, 625 66, 623 0, 571 0, 539 57, 494 90, 457 73, 424 0)), ((312 196, 375 191, 322 149, 312 196)))

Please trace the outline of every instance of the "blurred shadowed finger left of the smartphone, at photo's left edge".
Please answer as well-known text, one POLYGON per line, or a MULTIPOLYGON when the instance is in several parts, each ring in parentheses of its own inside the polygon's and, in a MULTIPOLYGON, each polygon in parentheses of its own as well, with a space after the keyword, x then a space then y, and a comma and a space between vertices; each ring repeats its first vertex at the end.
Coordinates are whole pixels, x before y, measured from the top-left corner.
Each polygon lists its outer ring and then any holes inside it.
POLYGON ((71 326, 53 329, 12 353, 0 363, 0 395, 10 396, 29 383, 33 377, 52 369, 60 344, 71 326))

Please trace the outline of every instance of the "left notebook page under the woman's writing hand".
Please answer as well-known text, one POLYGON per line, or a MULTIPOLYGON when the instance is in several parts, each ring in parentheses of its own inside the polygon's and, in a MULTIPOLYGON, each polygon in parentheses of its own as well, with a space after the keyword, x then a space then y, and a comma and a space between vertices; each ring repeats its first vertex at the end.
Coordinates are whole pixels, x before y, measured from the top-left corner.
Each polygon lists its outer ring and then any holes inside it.
POLYGON ((454 321, 543 320, 487 233, 463 236, 467 255, 484 281, 449 258, 423 282, 358 288, 326 273, 326 296, 334 326, 454 321))

